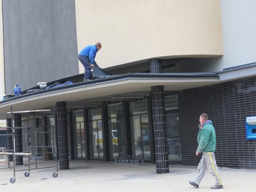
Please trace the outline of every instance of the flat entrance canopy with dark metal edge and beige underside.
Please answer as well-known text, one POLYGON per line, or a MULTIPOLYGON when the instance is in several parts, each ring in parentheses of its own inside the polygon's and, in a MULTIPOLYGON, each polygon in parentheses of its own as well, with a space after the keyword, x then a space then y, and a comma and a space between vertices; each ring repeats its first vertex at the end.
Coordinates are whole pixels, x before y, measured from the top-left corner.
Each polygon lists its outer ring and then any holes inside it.
MULTIPOLYGON (((52 109, 56 102, 74 104, 94 104, 112 101, 113 96, 144 95, 150 93, 151 86, 164 86, 165 91, 178 91, 199 86, 216 84, 216 73, 129 73, 108 76, 87 82, 40 90, 23 94, 0 102, 0 113, 14 111, 52 109)), ((0 119, 6 117, 0 116, 0 119)))

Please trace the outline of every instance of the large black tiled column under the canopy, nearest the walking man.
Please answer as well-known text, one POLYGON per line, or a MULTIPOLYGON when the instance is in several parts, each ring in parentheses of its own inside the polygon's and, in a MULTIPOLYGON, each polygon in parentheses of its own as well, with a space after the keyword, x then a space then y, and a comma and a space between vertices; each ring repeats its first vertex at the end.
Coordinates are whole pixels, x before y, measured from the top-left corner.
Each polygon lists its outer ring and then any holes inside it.
POLYGON ((156 172, 168 173, 168 149, 164 106, 164 86, 152 86, 152 112, 156 148, 156 172))

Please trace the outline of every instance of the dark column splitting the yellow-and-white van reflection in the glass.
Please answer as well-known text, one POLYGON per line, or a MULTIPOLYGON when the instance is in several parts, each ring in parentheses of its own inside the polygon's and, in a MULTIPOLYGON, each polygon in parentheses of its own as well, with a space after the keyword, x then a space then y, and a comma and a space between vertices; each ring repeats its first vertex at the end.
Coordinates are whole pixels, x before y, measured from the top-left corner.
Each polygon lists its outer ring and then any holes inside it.
POLYGON ((101 108, 102 139, 103 139, 103 160, 110 160, 109 134, 108 134, 108 106, 107 102, 101 108))

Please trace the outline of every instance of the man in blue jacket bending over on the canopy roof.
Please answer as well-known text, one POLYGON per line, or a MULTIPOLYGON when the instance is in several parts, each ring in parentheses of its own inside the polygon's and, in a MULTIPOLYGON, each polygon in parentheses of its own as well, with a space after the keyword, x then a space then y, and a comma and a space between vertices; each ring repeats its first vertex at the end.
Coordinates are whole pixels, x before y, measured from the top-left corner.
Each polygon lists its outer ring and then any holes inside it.
POLYGON ((101 44, 96 43, 95 45, 89 45, 80 51, 78 54, 78 59, 84 66, 84 81, 89 81, 91 78, 91 66, 98 66, 94 60, 96 53, 101 49, 101 44))

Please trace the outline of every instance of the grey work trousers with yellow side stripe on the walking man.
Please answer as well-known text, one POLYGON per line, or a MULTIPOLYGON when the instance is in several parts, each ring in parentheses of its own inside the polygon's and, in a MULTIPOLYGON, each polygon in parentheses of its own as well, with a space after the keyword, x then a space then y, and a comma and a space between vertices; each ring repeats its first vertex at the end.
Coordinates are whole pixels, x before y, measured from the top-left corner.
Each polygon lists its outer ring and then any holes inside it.
POLYGON ((198 164, 198 177, 194 179, 194 183, 200 184, 206 169, 210 171, 210 173, 215 177, 216 182, 215 185, 222 185, 222 181, 220 178, 220 172, 218 170, 218 166, 216 165, 215 155, 213 152, 205 152, 203 151, 202 159, 198 164))

